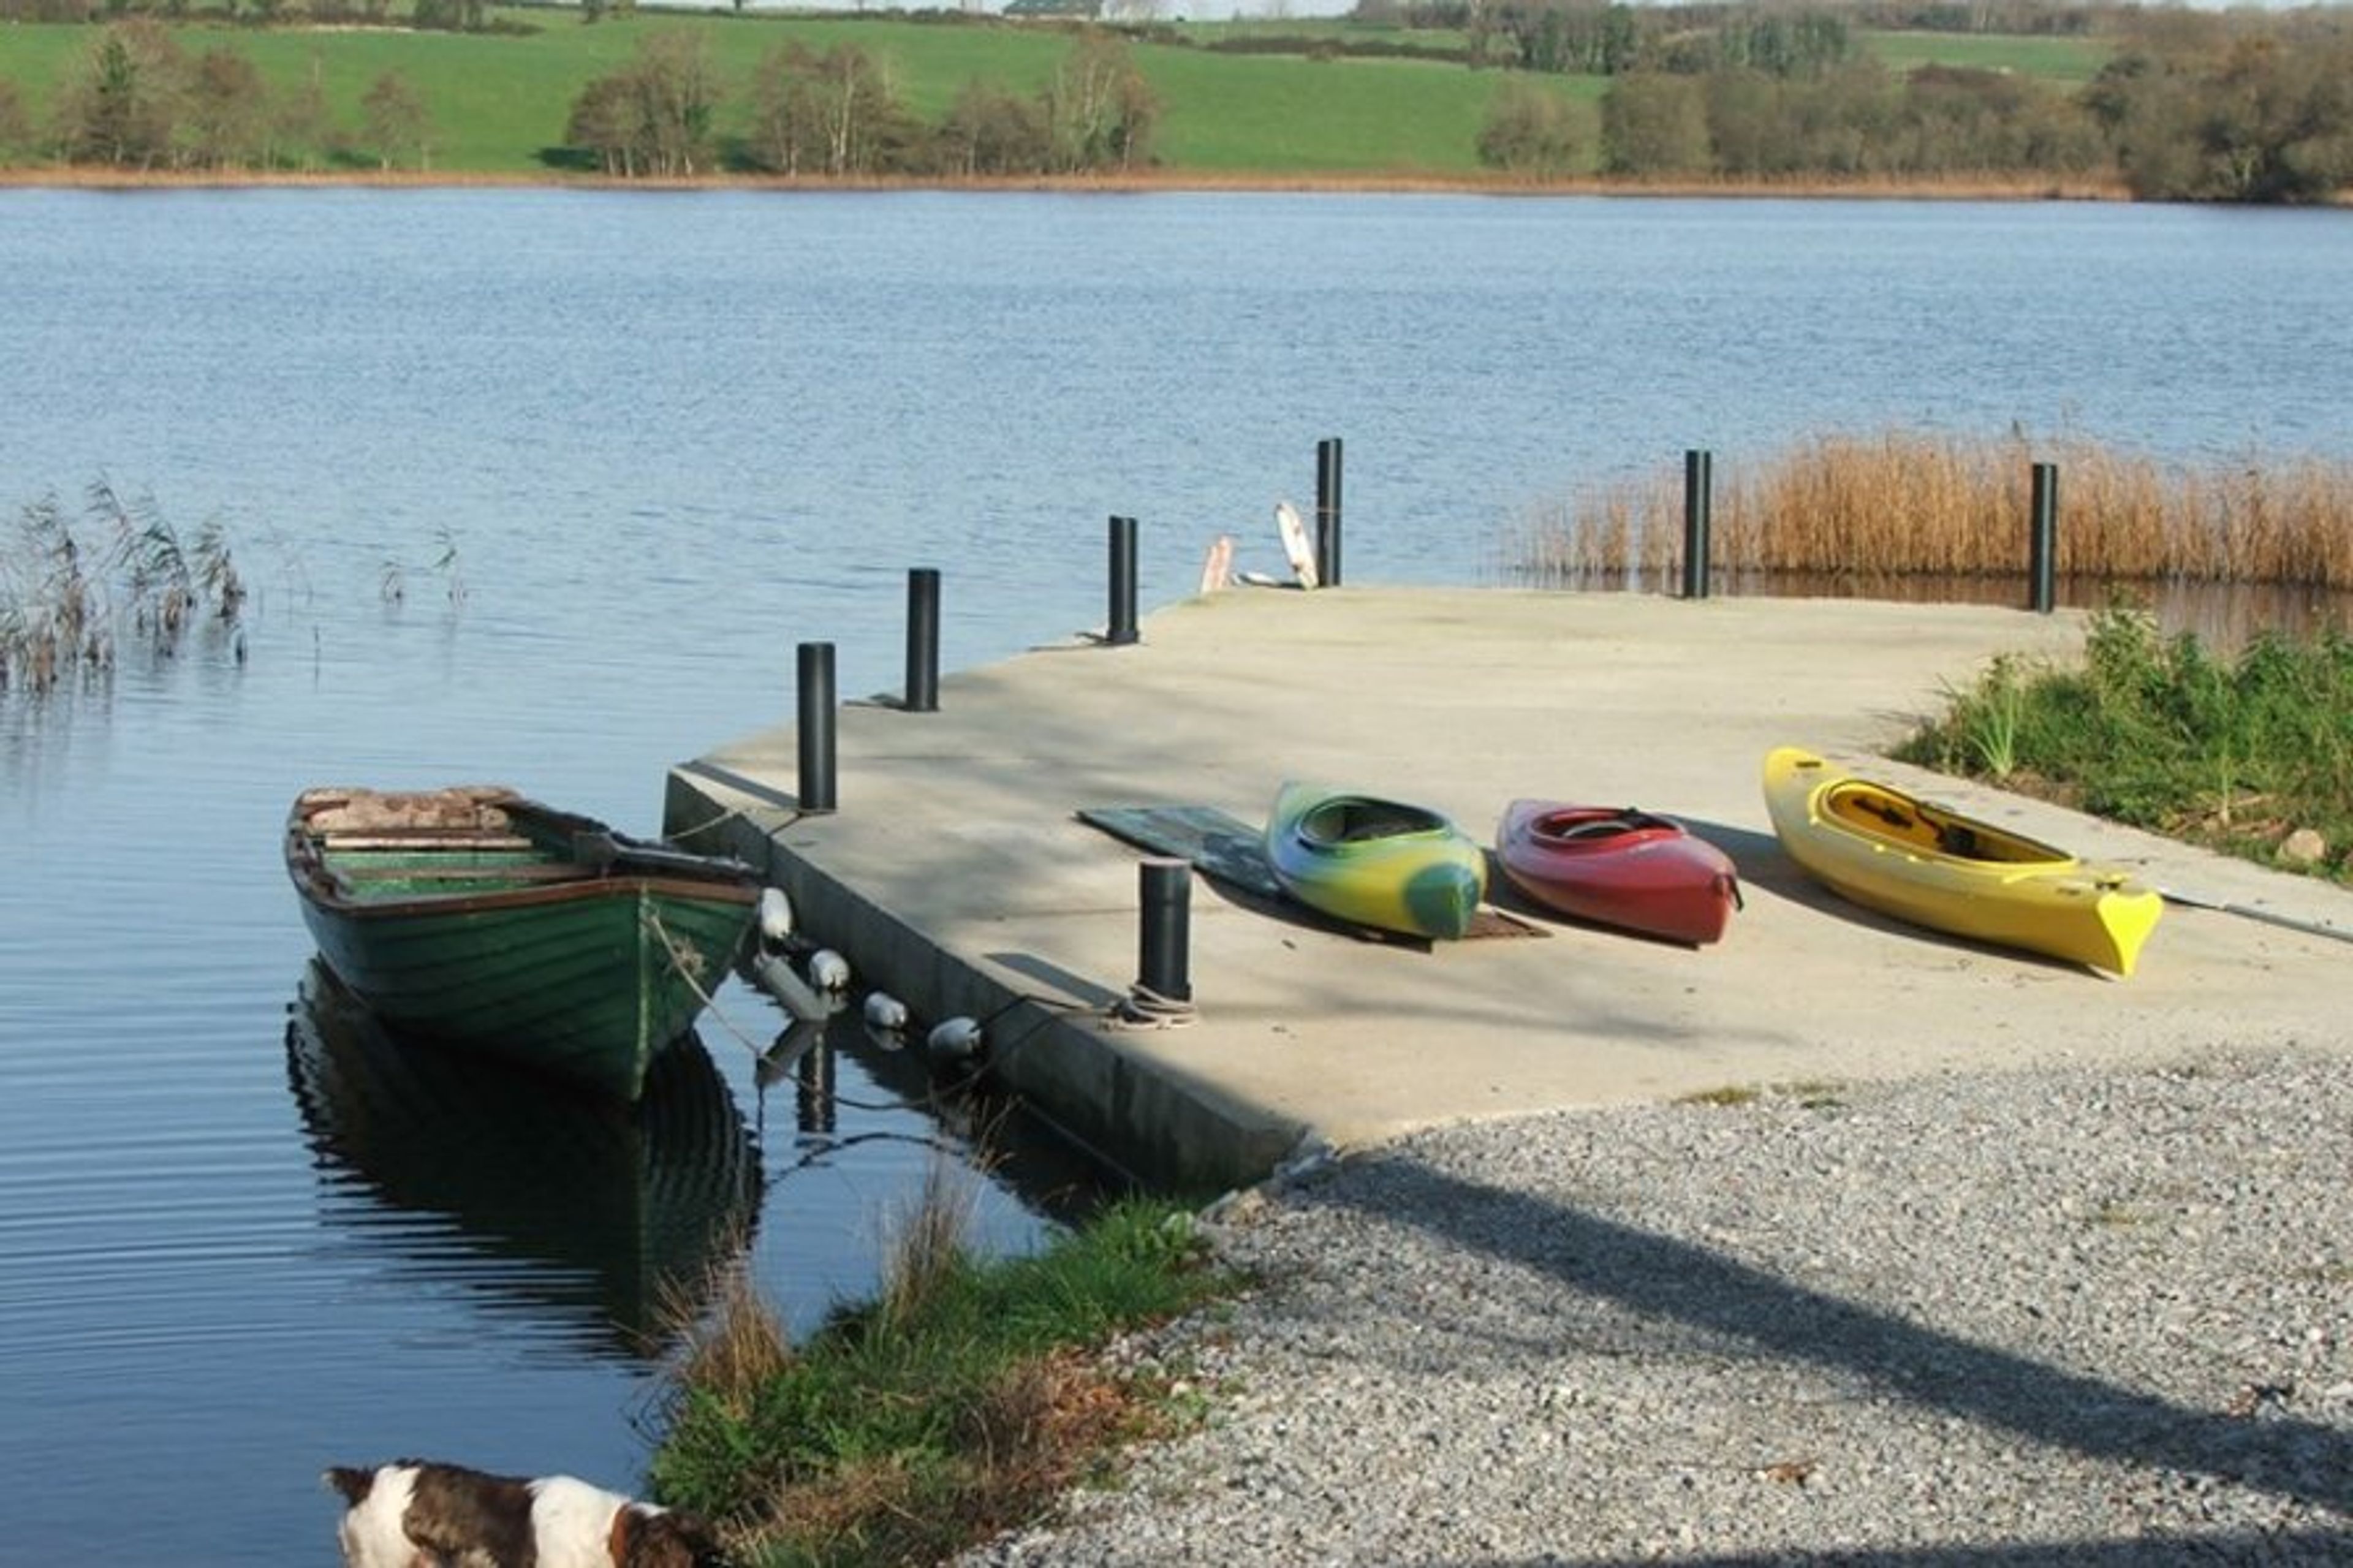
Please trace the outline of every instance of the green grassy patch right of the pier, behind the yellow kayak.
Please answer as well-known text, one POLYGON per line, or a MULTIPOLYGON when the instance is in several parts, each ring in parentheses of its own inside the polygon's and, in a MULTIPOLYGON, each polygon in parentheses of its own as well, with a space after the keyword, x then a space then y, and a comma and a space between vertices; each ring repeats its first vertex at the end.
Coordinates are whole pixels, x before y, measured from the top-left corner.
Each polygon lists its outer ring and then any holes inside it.
POLYGON ((2080 666, 1998 659, 1901 760, 2353 883, 2353 636, 2238 655, 2101 610, 2080 666))

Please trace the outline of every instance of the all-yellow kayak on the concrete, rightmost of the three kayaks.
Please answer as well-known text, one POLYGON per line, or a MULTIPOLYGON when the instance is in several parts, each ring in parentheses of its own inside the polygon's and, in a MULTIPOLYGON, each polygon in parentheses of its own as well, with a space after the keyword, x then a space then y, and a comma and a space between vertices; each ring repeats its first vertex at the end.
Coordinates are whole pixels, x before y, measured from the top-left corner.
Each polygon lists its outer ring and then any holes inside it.
POLYGON ((2165 899, 2118 866, 1861 779, 1812 751, 1765 758, 1781 848, 1857 904, 1913 925, 2129 975, 2165 899))

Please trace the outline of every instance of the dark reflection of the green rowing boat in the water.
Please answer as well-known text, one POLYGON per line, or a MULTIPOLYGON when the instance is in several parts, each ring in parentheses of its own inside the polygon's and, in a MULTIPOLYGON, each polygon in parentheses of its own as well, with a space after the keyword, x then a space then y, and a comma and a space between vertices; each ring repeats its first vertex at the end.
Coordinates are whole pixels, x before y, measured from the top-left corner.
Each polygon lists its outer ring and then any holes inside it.
POLYGON ((760 1210, 760 1151, 692 1034, 638 1104, 388 1031, 315 958, 287 1076, 329 1217, 433 1281, 647 1356, 760 1210))

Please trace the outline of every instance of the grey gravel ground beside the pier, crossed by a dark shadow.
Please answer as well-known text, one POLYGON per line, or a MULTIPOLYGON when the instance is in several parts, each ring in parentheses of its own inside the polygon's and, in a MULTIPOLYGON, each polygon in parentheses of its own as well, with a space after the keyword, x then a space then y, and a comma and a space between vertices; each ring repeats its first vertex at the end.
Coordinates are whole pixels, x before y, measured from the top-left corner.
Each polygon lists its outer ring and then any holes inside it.
POLYGON ((1454 1125, 1212 1215, 1257 1288, 1120 1351, 1205 1424, 972 1568, 2353 1563, 2329 1050, 1454 1125))

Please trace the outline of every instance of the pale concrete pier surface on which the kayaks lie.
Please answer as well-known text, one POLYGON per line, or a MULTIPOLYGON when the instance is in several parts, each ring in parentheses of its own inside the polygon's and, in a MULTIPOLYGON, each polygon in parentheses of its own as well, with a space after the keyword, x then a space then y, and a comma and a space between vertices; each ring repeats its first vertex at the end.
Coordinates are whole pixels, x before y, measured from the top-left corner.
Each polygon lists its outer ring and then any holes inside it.
MULTIPOLYGON (((2339 1041, 2353 892, 1880 760, 1993 655, 2080 647, 2071 612, 1233 589, 1146 617, 1132 645, 951 673, 929 713, 845 702, 833 812, 798 810, 788 725, 722 744, 673 768, 664 826, 767 866, 864 984, 918 1019, 984 1019, 1009 1088, 1184 1191, 1466 1118, 2339 1041), (1779 744, 2233 911, 2167 909, 2132 979, 1906 928, 1781 852, 1760 793, 1779 744), (1419 949, 1195 873, 1195 1017, 1118 1022, 1146 852, 1078 812, 1257 826, 1292 777, 1433 805, 1487 843, 1520 796, 1666 812, 1732 855, 1746 906, 1706 949, 1541 916, 1419 949)), ((1489 899, 1525 911, 1499 881, 1489 899)))

